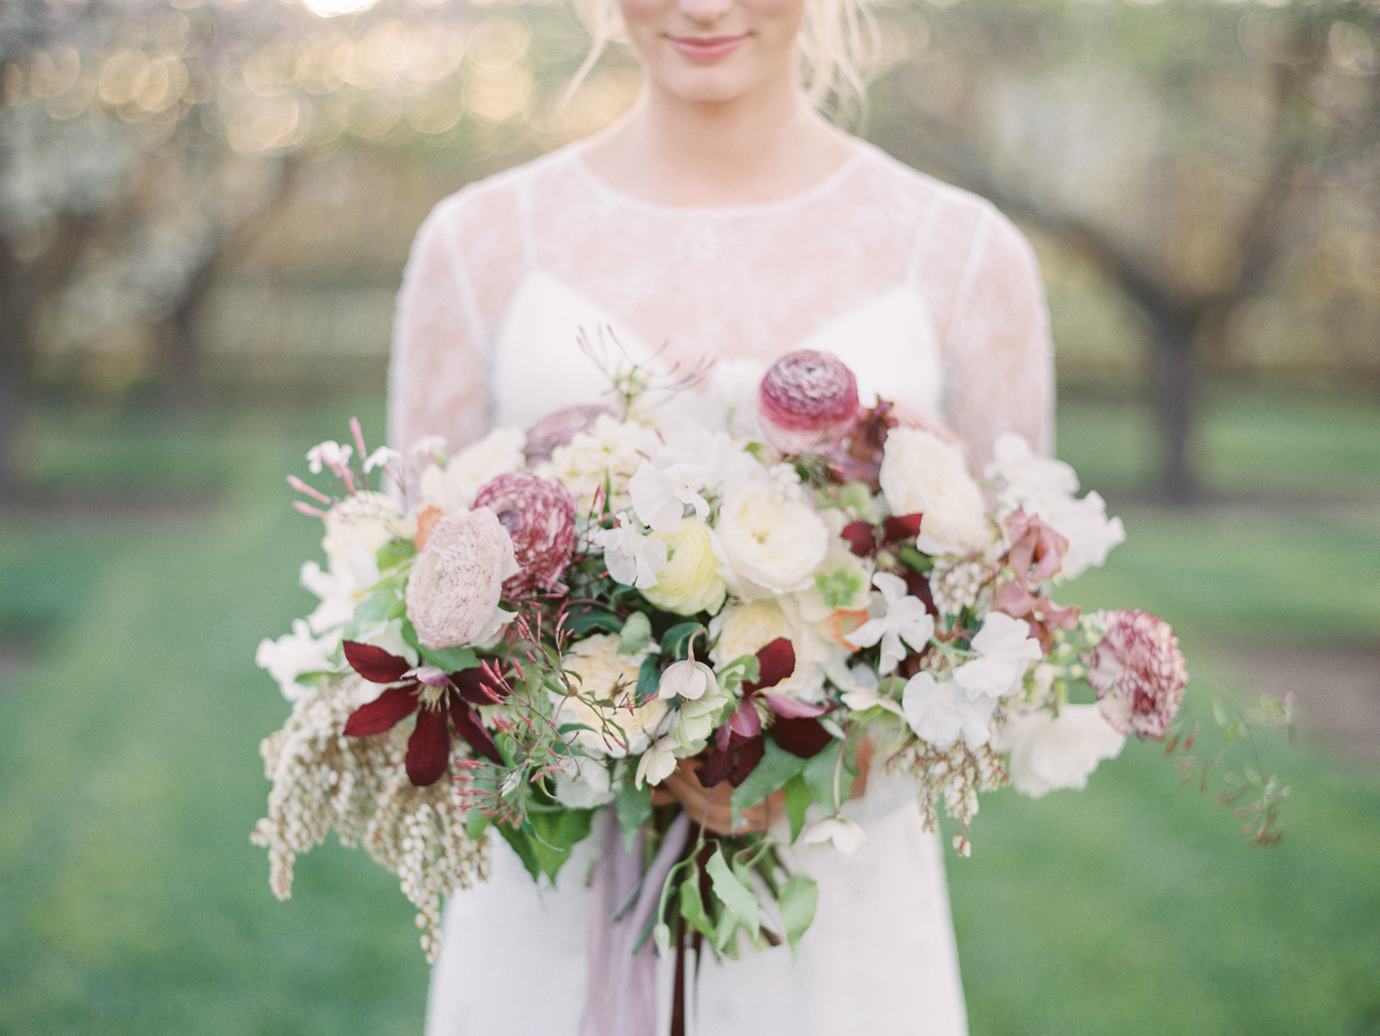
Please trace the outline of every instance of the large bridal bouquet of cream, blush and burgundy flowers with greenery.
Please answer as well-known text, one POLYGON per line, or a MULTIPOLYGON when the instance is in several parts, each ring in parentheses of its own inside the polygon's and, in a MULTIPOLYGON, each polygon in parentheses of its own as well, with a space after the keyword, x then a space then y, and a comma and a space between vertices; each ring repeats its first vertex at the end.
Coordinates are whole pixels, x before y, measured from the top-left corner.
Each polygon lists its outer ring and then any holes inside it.
POLYGON ((490 832, 555 880, 610 807, 644 862, 680 839, 642 941, 793 948, 817 897, 793 847, 858 847, 868 767, 911 775, 967 854, 978 792, 1082 788, 1165 735, 1169 626, 1050 597, 1123 538, 1067 465, 1006 435, 978 483, 825 353, 713 374, 654 406, 632 368, 607 407, 448 459, 368 452, 357 422, 308 454, 334 479, 290 480, 326 526, 301 574, 322 603, 258 653, 294 702, 254 830, 279 897, 334 828, 433 956, 490 832))

